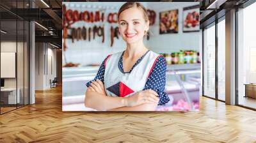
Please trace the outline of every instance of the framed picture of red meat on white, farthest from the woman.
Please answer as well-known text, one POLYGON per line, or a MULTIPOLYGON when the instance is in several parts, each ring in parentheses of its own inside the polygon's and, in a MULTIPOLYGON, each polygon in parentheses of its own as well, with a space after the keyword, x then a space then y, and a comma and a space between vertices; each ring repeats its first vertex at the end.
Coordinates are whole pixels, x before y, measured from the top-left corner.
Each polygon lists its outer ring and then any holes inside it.
POLYGON ((183 32, 200 31, 199 5, 183 8, 183 32))

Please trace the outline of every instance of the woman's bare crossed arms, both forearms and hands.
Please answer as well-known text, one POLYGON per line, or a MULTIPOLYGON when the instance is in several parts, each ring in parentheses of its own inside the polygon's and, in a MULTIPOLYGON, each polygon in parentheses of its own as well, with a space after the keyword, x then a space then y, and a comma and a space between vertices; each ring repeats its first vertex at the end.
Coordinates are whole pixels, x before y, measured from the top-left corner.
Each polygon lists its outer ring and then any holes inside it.
POLYGON ((86 91, 84 99, 86 107, 110 111, 154 111, 158 102, 158 94, 151 89, 140 91, 130 97, 107 96, 104 84, 100 80, 92 82, 86 91))

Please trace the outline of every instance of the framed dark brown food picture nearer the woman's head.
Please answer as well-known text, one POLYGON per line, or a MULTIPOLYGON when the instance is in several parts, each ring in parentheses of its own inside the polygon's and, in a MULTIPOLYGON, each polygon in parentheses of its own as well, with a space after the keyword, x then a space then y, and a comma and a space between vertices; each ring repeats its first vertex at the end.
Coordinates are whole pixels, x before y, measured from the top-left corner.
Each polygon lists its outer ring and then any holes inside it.
POLYGON ((178 33, 179 25, 179 11, 169 10, 162 11, 159 13, 160 23, 159 23, 159 33, 178 33))

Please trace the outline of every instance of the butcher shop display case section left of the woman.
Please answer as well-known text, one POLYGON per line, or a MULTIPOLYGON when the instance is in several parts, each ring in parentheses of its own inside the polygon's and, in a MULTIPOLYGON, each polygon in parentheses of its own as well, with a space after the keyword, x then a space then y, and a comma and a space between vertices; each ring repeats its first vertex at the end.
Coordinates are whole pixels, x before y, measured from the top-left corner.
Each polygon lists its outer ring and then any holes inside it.
POLYGON ((99 66, 62 68, 62 109, 65 111, 92 111, 84 107, 86 83, 94 79, 99 66))

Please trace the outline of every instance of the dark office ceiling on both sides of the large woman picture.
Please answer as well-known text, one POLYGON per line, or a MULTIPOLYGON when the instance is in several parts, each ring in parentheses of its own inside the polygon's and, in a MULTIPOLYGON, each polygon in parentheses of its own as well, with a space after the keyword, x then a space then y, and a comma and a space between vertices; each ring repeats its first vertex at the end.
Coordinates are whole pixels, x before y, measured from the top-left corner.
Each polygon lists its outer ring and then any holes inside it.
MULTIPOLYGON (((72 0, 63 0, 72 1, 72 0)), ((73 0, 77 1, 77 0, 73 0)), ((88 0, 84 0, 88 1, 88 0)), ((92 1, 92 0, 91 0, 92 1)), ((93 0, 97 1, 97 0, 93 0)), ((100 2, 100 0, 98 0, 100 2)), ((103 0, 101 0, 103 1, 103 0)), ((162 0, 166 1, 166 0, 162 0)), ((172 2, 200 2, 200 25, 204 25, 221 10, 228 10, 239 6, 248 0, 171 0, 172 2), (208 8, 211 5, 211 8, 208 8), (207 21, 208 20, 208 21, 207 21)), ((16 24, 13 21, 18 20, 35 20, 36 41, 45 41, 56 43, 61 47, 61 0, 1 0, 0 1, 0 18, 1 29, 8 31, 10 35, 22 33, 23 26, 17 23, 18 31, 15 33, 16 24), (32 8, 33 7, 33 8, 32 8), (52 31, 49 33, 49 31, 52 31), (57 42, 58 41, 58 42, 57 42)), ((224 12, 225 13, 225 12, 224 12)))

